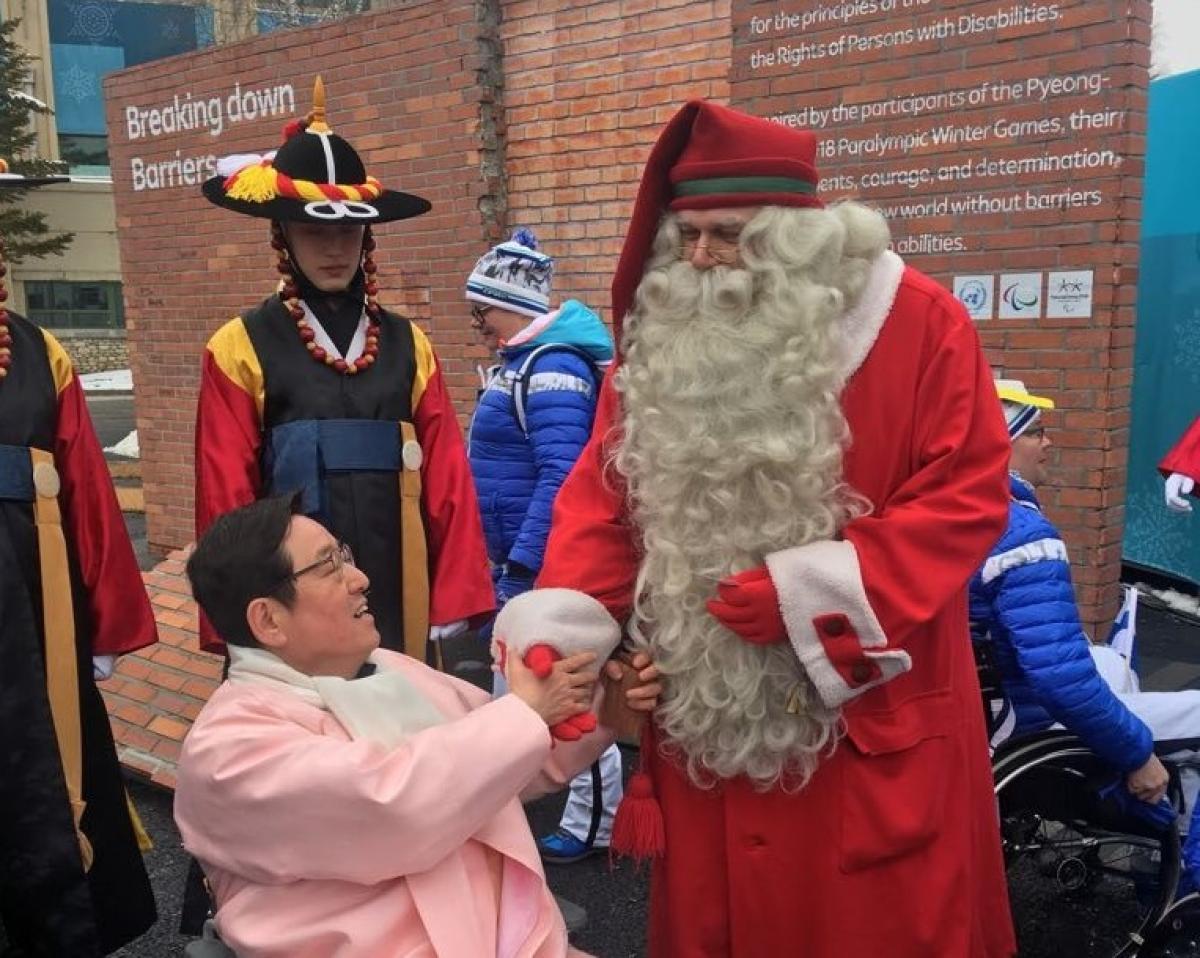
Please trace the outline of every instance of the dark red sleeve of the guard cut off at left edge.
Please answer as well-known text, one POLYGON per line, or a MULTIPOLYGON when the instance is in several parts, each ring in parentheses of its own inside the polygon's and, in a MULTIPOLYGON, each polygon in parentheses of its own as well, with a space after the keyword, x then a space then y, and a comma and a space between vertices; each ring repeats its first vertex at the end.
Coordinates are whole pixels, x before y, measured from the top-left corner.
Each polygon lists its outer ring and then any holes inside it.
POLYGON ((62 480, 62 525, 88 593, 91 653, 118 655, 157 642, 150 598, 73 375, 59 390, 54 462, 62 480))

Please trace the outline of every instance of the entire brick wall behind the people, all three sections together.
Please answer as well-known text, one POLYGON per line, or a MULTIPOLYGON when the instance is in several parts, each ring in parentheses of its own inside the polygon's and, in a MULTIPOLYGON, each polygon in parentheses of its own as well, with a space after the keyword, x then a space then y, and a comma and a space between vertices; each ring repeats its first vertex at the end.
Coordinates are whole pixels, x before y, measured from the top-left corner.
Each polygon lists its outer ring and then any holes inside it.
POLYGON ((218 140, 202 130, 131 142, 124 125, 130 104, 167 103, 182 91, 223 96, 234 83, 244 90, 292 83, 302 113, 311 60, 295 52, 322 58, 335 128, 385 182, 434 202, 433 214, 382 230, 383 298, 430 328, 464 417, 474 399, 474 366, 486 359, 461 299, 475 257, 510 229, 533 227, 556 257, 556 295, 578 297, 607 315, 612 267, 641 166, 683 101, 732 100, 762 115, 797 120, 806 107, 862 107, 1002 80, 1012 86, 1033 77, 1096 74, 1102 89, 1056 90, 1045 102, 1009 96, 973 109, 844 121, 836 130, 829 124, 823 139, 833 143, 822 148, 821 163, 829 176, 856 176, 852 190, 827 182, 832 194, 857 193, 892 206, 1027 190, 1099 197, 1040 212, 952 215, 930 208, 893 220, 906 258, 948 285, 962 274, 1031 271, 1044 297, 1049 271, 1092 270, 1090 317, 980 319, 979 327, 997 370, 1060 401, 1062 412, 1049 420, 1058 489, 1048 499, 1073 551, 1085 616, 1098 624, 1111 616, 1120 564, 1148 34, 1148 0, 450 0, 115 74, 107 97, 151 544, 174 547, 190 538, 192 409, 203 342, 264 295, 272 262, 265 223, 209 208, 194 186, 134 191, 131 162, 170 160, 175 150, 186 157, 274 146, 282 119, 229 126, 218 140), (1033 11, 1032 19, 1001 25, 1002 17, 1016 16, 1012 11, 1033 11), (782 17, 778 28, 775 17, 782 17), (959 34, 961 18, 967 29, 959 34), (928 40, 902 36, 942 22, 955 26, 928 40), (827 48, 821 56, 805 47, 846 43, 846 35, 900 35, 904 42, 842 48, 836 55, 827 48), (761 55, 772 50, 774 64, 764 64, 761 55), (1118 119, 1070 130, 1069 118, 1080 110, 1118 119), (1046 118, 1057 118, 1058 127, 1026 127, 995 142, 997 119, 1046 118), (986 130, 967 145, 908 143, 886 155, 851 157, 836 144, 839 137, 911 137, 935 121, 976 120, 986 130), (1110 150, 1118 161, 1003 182, 980 175, 918 188, 858 188, 858 178, 889 169, 936 170, 1076 146, 1110 150))

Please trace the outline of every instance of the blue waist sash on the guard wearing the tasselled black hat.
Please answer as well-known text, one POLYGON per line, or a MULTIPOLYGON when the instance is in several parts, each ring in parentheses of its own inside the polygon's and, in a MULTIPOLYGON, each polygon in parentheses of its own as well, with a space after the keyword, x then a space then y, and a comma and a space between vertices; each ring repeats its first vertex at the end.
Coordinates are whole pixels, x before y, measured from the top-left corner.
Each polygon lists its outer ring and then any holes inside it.
POLYGON ((400 472, 400 423, 298 419, 268 432, 263 479, 272 493, 300 492, 305 515, 324 517, 328 473, 400 472))

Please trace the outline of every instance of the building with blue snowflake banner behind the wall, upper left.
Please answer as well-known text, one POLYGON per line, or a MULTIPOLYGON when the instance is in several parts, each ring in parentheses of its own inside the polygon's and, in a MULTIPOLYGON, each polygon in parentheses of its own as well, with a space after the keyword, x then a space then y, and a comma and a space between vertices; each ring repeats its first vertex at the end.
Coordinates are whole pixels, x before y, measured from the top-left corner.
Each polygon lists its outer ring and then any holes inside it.
POLYGON ((0 0, 35 58, 25 92, 53 110, 34 120, 37 154, 72 181, 30 194, 52 229, 74 233, 62 257, 17 264, 13 306, 54 330, 85 372, 127 366, 121 263, 103 78, 118 70, 281 28, 361 12, 370 0, 0 0))

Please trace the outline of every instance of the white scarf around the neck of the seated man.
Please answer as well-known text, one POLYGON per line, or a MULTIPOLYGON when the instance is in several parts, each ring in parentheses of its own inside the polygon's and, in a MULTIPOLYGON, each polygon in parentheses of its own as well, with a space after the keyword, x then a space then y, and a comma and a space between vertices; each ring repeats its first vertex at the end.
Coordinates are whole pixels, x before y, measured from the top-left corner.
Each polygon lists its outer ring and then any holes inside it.
POLYGON ((286 689, 298 699, 329 712, 350 738, 395 748, 410 735, 445 722, 443 715, 403 673, 367 659, 376 673, 346 679, 298 672, 274 652, 229 646, 229 681, 286 689))

